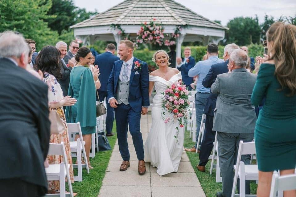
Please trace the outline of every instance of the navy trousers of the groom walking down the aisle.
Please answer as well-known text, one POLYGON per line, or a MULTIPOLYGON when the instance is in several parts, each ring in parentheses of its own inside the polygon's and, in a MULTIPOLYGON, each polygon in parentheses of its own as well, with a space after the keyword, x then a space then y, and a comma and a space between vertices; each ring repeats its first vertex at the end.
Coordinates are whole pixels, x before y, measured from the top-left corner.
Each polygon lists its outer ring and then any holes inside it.
POLYGON ((140 132, 141 112, 135 112, 130 105, 124 103, 114 108, 114 111, 118 146, 122 159, 130 161, 129 145, 127 143, 127 131, 128 126, 130 126, 130 135, 133 138, 138 160, 144 160, 143 139, 140 132))

